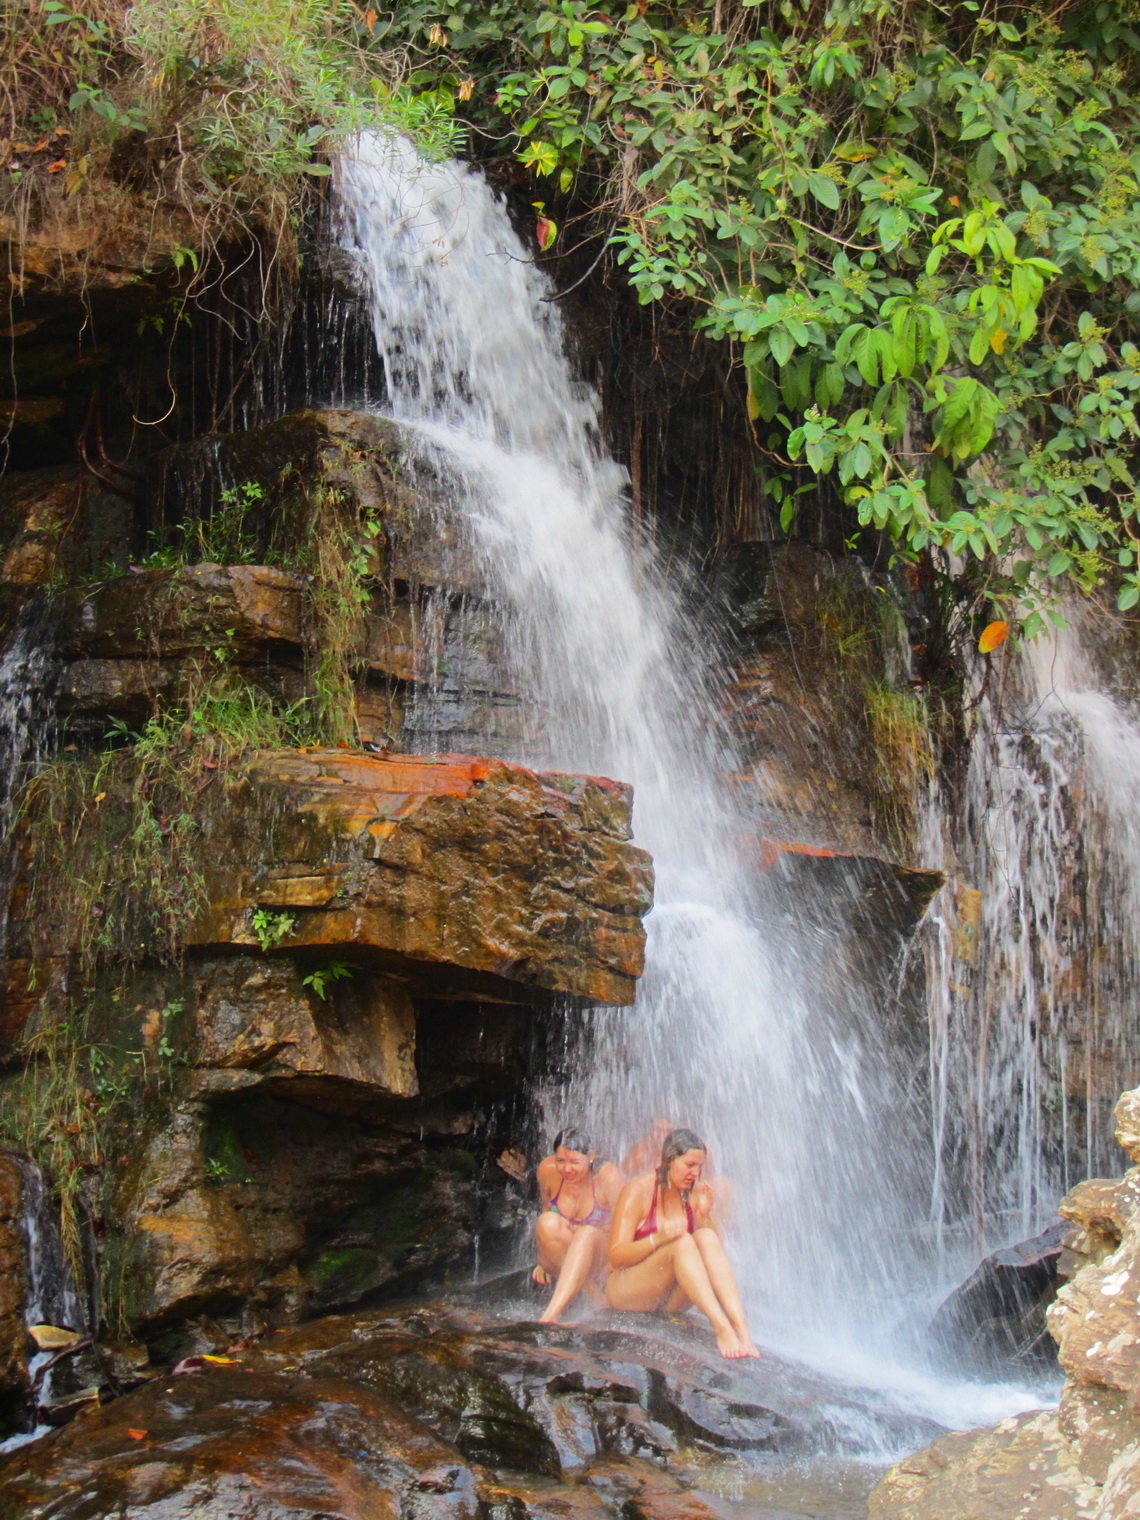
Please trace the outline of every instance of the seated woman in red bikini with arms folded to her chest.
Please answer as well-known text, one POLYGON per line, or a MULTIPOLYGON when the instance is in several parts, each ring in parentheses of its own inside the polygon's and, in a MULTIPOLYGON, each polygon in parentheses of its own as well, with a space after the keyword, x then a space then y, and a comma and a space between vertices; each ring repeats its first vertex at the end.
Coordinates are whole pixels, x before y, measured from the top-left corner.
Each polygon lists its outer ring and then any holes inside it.
POLYGON ((610 1231, 605 1297, 614 1309, 679 1313, 696 1304, 720 1356, 758 1356, 713 1219, 713 1189, 701 1181, 705 1145, 673 1129, 655 1172, 622 1189, 610 1231))

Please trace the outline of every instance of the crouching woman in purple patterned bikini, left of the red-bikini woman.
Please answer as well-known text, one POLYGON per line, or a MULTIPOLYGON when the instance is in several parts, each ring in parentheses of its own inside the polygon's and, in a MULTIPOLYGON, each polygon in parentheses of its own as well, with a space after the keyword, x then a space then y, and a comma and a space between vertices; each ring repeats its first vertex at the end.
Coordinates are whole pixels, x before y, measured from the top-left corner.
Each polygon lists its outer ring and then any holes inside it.
POLYGON ((538 1266, 534 1280, 555 1284, 540 1316, 558 1324, 573 1300, 605 1275, 610 1214, 622 1192, 622 1173, 610 1161, 594 1170, 597 1151, 581 1129, 562 1129, 553 1155, 538 1163, 543 1211, 535 1225, 538 1266))

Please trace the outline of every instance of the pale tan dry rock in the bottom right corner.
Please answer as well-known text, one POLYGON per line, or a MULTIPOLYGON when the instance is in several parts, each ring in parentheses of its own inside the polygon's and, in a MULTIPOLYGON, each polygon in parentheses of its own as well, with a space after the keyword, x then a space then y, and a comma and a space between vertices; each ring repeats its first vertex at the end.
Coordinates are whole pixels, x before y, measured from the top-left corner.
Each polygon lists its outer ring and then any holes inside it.
POLYGON ((1140 1515, 1140 1088, 1116 1107, 1132 1167, 1081 1183, 1049 1310, 1066 1386, 1053 1411, 942 1436, 891 1468, 869 1520, 1135 1520, 1140 1515))

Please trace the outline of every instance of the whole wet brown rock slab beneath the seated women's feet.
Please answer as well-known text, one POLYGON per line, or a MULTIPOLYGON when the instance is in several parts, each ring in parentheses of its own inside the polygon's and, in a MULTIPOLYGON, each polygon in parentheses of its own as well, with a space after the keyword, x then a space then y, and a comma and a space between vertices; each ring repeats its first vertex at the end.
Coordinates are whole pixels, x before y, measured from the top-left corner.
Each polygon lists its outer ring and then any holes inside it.
POLYGON ((845 1400, 778 1359, 728 1368, 693 1324, 334 1316, 155 1373, 0 1459, 0 1517, 755 1520, 692 1461, 841 1452, 845 1400))

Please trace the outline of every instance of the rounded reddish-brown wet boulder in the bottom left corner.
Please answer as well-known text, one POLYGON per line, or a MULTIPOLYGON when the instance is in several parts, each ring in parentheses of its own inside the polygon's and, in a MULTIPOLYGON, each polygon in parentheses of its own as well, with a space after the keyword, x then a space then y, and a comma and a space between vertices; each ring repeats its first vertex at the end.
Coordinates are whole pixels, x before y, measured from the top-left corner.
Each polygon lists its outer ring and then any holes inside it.
POLYGON ((6 1465, 0 1520, 480 1520, 453 1447, 337 1379, 158 1379, 6 1465))

